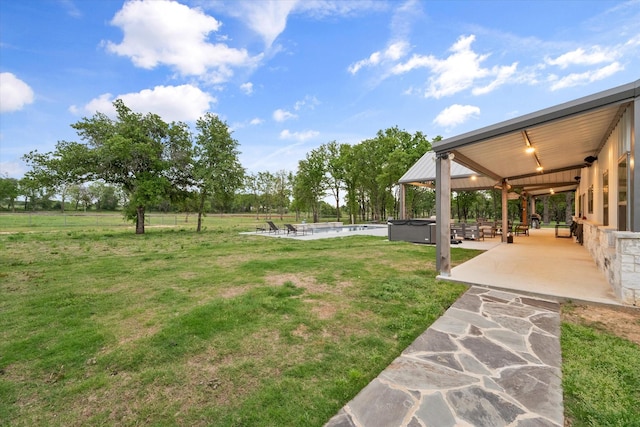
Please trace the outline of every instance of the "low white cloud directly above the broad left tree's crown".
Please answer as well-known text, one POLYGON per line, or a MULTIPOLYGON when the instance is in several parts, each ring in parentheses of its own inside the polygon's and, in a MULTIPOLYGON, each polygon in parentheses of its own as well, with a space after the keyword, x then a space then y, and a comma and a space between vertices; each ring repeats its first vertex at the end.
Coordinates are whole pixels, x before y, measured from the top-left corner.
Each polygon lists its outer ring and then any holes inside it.
MULTIPOLYGON (((112 96, 110 93, 92 99, 82 110, 93 115, 96 112, 115 117, 113 101, 122 99, 124 104, 138 113, 154 113, 163 120, 192 122, 209 111, 216 98, 192 85, 156 86, 137 93, 127 93, 112 96)), ((76 106, 71 106, 71 112, 77 112, 76 106)))

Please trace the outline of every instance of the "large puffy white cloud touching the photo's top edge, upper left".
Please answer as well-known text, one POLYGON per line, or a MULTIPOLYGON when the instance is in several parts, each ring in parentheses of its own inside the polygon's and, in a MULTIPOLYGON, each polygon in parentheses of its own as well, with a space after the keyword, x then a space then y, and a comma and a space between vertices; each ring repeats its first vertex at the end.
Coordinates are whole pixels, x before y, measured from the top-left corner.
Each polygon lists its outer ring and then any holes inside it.
POLYGON ((221 23, 175 1, 128 1, 111 24, 123 30, 124 38, 120 44, 106 42, 107 50, 131 58, 141 68, 164 64, 183 75, 222 83, 233 75, 233 67, 252 67, 261 59, 245 49, 207 42, 221 23))

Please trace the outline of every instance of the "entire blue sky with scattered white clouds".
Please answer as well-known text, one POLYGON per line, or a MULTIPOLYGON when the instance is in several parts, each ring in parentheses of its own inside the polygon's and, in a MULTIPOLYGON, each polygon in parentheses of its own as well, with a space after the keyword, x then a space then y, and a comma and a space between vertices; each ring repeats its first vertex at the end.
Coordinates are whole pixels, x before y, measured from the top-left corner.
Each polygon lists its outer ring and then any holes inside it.
POLYGON ((329 141, 429 139, 640 78, 640 1, 0 2, 0 175, 133 110, 218 114, 248 172, 329 141))

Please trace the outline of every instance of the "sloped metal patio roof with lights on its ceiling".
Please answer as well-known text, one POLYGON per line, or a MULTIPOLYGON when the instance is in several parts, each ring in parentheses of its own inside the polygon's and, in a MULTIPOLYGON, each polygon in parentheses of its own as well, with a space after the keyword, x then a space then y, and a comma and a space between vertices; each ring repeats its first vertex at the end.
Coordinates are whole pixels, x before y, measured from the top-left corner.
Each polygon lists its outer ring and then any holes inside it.
POLYGON ((435 156, 448 152, 454 154, 454 191, 493 188, 503 179, 531 195, 575 190, 577 177, 589 164, 585 159, 598 156, 618 118, 638 96, 640 80, 444 139, 399 182, 429 185, 436 176, 435 156), (528 145, 533 154, 525 152, 528 145))

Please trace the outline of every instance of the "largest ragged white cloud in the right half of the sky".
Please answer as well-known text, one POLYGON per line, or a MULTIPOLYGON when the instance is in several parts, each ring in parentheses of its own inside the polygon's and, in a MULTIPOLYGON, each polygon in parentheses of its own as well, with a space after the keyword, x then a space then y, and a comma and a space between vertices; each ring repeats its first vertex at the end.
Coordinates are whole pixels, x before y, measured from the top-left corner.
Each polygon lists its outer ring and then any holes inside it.
POLYGON ((474 35, 460 37, 449 49, 451 55, 445 59, 438 59, 433 55, 413 55, 407 62, 393 67, 391 72, 403 74, 418 68, 428 68, 432 75, 424 92, 427 98, 451 96, 469 88, 472 88, 474 95, 489 93, 510 80, 518 63, 483 68, 482 63, 489 55, 480 55, 471 49, 475 38, 474 35), (490 79, 488 83, 474 87, 487 79, 490 79))

